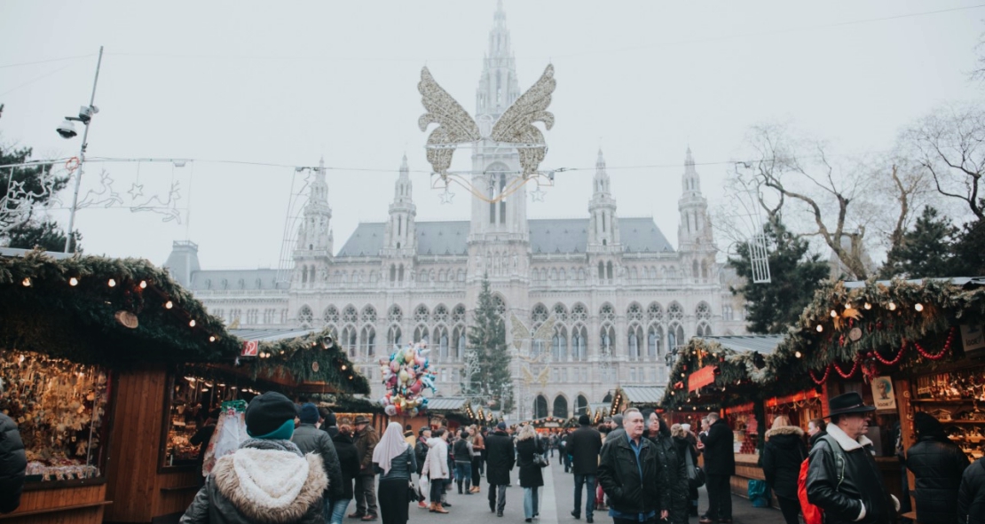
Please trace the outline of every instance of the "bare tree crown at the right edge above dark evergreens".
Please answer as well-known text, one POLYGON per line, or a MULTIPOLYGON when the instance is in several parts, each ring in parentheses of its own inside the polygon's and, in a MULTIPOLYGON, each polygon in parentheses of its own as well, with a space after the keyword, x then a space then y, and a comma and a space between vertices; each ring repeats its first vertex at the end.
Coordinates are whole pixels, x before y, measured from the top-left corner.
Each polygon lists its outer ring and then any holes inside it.
POLYGON ((962 201, 977 219, 985 218, 980 194, 985 174, 985 111, 974 104, 942 107, 902 134, 917 163, 938 192, 962 201))

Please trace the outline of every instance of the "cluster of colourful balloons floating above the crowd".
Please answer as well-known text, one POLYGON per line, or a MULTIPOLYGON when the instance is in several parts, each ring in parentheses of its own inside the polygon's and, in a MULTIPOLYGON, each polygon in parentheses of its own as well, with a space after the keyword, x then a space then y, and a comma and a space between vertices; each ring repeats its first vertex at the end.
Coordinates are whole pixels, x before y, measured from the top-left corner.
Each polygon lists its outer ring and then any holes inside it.
POLYGON ((429 388, 437 393, 428 352, 427 343, 408 344, 405 349, 395 346, 389 361, 379 360, 380 376, 387 390, 379 402, 390 417, 417 417, 427 409, 427 398, 421 392, 429 388))

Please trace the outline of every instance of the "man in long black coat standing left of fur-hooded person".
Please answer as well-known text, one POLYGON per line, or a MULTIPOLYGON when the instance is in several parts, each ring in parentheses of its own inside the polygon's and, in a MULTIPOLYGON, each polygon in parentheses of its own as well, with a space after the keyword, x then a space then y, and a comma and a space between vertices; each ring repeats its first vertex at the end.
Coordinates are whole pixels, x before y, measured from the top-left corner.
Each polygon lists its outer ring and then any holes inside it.
POLYGON ((717 413, 708 414, 708 434, 697 448, 704 453, 704 485, 708 489, 708 510, 700 524, 732 524, 732 491, 729 480, 736 474, 732 428, 717 413))

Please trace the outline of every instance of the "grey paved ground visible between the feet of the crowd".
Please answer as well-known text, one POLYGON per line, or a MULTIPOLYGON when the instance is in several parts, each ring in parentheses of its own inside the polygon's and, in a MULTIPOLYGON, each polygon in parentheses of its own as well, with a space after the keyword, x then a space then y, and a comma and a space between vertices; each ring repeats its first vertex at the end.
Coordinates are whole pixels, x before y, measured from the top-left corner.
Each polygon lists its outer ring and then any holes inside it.
MULTIPOLYGON (((574 520, 570 515, 574 506, 574 476, 564 473, 564 467, 555 458, 551 466, 544 472, 544 488, 541 492, 541 516, 535 520, 539 524, 585 524, 584 515, 581 520, 574 520), (550 472, 550 475, 548 474, 550 472)), ((418 509, 412 504, 410 509, 411 524, 433 524, 446 520, 454 524, 464 522, 488 522, 489 524, 515 524, 523 522, 523 489, 516 483, 517 471, 513 470, 513 486, 506 490, 506 510, 503 518, 495 517, 490 512, 489 485, 483 479, 482 492, 478 494, 458 494, 457 487, 448 492, 448 501, 452 507, 447 515, 431 513, 426 509, 418 509)), ((702 488, 698 491, 700 501, 698 507, 703 511, 707 508, 707 492, 702 488)), ((584 502, 583 502, 584 503, 584 502)), ((352 506, 350 506, 352 508, 352 506)), ((741 496, 732 497, 732 512, 735 524, 783 524, 783 516, 778 509, 758 508, 741 496)), ((351 522, 357 522, 353 520, 351 522)), ((606 512, 595 513, 597 524, 611 524, 612 518, 606 512)), ((689 524, 697 524, 697 517, 690 517, 689 524)))

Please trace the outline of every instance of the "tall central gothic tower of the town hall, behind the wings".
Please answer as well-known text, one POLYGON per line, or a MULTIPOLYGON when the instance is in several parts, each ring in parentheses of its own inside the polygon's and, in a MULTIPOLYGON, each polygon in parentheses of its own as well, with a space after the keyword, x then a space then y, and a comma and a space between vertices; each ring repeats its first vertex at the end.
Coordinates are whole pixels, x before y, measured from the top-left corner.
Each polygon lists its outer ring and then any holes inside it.
MULTIPOLYGON (((489 135, 496 119, 519 97, 506 14, 499 2, 476 90, 476 121, 483 136, 489 135)), ((520 172, 519 155, 513 147, 487 138, 473 150, 472 181, 477 187, 485 188, 490 196, 516 187, 520 172)), ((521 185, 497 202, 473 198, 469 233, 469 258, 472 261, 469 277, 473 282, 487 273, 493 282, 526 282, 528 279, 530 228, 526 195, 526 188, 521 185)))

